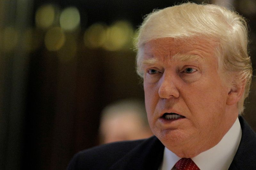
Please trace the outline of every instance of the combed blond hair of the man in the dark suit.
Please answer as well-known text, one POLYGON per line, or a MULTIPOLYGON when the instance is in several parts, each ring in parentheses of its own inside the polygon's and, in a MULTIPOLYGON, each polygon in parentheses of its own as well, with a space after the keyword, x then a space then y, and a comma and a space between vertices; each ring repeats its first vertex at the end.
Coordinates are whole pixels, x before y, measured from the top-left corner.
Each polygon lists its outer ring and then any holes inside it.
POLYGON ((234 11, 213 4, 184 3, 148 14, 140 26, 137 40, 137 73, 143 78, 141 63, 144 44, 159 38, 205 39, 216 42, 219 74, 231 86, 245 84, 238 102, 239 114, 249 94, 252 64, 248 54, 245 19, 234 11))

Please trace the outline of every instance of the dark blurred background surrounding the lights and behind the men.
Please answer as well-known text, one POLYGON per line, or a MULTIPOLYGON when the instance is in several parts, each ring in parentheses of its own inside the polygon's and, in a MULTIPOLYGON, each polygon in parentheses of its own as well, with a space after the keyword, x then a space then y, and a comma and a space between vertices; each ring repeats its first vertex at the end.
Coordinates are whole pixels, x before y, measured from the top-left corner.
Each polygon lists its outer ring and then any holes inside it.
MULTIPOLYGON (((135 72, 136 52, 132 48, 87 48, 84 31, 96 22, 109 26, 116 20, 129 21, 136 30, 143 16, 153 9, 180 2, 0 0, 0 46, 8 35, 5 28, 12 26, 20 33, 14 48, 0 48, 0 169, 65 169, 76 152, 97 145, 102 108, 120 99, 143 99, 144 95, 135 72), (23 30, 32 27, 37 31, 33 34, 36 40, 44 38, 45 30, 36 29, 35 15, 38 8, 49 3, 59 10, 69 6, 79 10, 79 30, 67 33, 76 36, 72 60, 60 60, 58 51, 47 50, 43 40, 34 50, 24 50, 23 30)), ((230 2, 248 19, 255 68, 256 3, 230 2)), ((15 34, 9 39, 13 37, 15 34)), ((253 78, 244 117, 254 130, 255 90, 253 78)))

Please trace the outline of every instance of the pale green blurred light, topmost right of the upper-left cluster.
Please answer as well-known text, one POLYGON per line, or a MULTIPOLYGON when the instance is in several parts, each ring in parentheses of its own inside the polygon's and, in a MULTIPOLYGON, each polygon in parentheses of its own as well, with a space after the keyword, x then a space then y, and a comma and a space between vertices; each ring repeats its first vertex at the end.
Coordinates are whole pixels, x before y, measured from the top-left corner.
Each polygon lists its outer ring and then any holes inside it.
POLYGON ((60 14, 60 27, 72 31, 80 25, 80 14, 76 7, 69 7, 60 14))

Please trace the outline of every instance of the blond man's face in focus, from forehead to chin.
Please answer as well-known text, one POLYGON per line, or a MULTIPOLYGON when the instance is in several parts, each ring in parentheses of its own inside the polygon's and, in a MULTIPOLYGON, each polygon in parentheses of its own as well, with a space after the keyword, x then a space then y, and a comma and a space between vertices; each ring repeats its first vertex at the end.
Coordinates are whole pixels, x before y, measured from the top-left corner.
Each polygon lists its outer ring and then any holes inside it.
POLYGON ((163 38, 145 44, 145 104, 152 132, 179 157, 218 144, 236 120, 226 104, 230 88, 218 73, 209 41, 163 38))

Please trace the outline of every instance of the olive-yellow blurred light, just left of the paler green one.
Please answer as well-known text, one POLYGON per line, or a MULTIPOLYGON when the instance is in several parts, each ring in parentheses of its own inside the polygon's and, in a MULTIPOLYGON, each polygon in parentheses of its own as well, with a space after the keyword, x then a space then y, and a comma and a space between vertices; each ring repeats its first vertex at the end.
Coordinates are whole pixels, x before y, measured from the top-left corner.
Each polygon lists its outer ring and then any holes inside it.
POLYGON ((39 7, 36 11, 36 26, 39 28, 48 28, 54 22, 55 10, 53 5, 47 4, 39 7))

